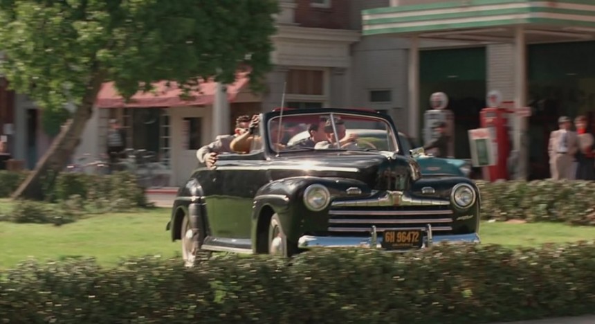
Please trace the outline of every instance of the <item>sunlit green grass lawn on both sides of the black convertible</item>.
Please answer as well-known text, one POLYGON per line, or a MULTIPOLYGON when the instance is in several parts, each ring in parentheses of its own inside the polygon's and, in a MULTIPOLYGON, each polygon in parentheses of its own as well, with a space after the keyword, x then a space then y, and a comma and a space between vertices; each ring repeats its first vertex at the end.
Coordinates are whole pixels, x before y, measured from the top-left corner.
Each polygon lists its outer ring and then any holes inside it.
MULTIPOLYGON (((0 199, 0 213, 10 210, 0 199)), ((169 208, 140 213, 93 215, 64 226, 0 222, 0 269, 14 267, 29 257, 60 260, 95 257, 105 266, 140 255, 180 255, 180 242, 172 242, 165 224, 169 208)), ((482 222, 483 244, 537 246, 543 243, 593 240, 595 227, 564 224, 506 224, 482 222)))

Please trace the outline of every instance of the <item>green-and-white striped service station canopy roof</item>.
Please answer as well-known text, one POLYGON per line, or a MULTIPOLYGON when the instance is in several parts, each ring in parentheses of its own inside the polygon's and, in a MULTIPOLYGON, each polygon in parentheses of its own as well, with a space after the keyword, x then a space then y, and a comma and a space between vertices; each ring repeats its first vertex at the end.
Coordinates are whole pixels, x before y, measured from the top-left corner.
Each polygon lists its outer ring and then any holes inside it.
POLYGON ((594 0, 396 0, 363 10, 363 35, 393 35, 470 44, 512 43, 523 26, 527 44, 595 39, 594 0), (431 3, 428 3, 431 2, 431 3))

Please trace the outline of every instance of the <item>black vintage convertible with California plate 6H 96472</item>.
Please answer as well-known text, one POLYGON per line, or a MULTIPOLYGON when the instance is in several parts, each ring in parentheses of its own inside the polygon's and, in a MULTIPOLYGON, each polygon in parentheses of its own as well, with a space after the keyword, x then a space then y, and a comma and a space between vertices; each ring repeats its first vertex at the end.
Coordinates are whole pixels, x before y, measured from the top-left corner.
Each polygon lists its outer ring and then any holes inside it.
MULTIPOLYGON (((410 251, 479 242, 479 189, 465 177, 421 177, 390 116, 351 109, 260 115, 247 154, 220 154, 178 190, 167 230, 183 258, 199 251, 293 255, 315 247, 410 251), (345 147, 277 145, 284 125, 328 120, 383 132, 345 147)), ((345 127, 345 128, 343 128, 345 127)), ((363 131, 362 131, 363 132, 363 131)), ((362 133, 364 134, 364 132, 362 133)))

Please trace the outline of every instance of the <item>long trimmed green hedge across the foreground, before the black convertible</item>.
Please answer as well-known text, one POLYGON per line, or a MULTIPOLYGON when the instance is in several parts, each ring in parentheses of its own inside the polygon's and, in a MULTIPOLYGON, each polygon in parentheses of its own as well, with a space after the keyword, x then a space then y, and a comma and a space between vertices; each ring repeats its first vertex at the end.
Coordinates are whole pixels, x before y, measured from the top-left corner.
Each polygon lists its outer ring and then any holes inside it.
POLYGON ((3 323, 490 323, 592 314, 595 244, 26 262, 0 273, 3 323))

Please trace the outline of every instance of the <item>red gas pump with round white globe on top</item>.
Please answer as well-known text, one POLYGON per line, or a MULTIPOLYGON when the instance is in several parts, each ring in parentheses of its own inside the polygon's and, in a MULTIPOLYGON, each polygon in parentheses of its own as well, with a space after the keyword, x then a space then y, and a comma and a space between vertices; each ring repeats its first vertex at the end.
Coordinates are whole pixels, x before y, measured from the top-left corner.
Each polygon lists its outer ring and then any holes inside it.
POLYGON ((509 137, 509 114, 511 111, 501 107, 502 96, 497 91, 488 94, 488 106, 479 113, 482 128, 489 129, 492 138, 495 165, 488 167, 490 181, 508 179, 508 159, 511 150, 509 137))

